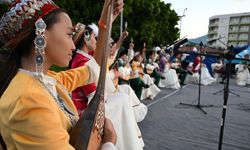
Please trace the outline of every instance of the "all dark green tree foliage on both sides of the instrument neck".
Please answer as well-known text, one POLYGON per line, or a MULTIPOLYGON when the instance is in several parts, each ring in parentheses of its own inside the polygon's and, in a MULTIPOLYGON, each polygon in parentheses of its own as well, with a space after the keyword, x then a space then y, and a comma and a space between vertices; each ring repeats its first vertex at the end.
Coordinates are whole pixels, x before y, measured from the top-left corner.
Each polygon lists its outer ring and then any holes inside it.
MULTIPOLYGON (((57 5, 64 8, 70 15, 73 23, 81 22, 85 25, 98 22, 104 0, 57 0, 57 5)), ((125 0, 124 22, 128 22, 129 37, 124 41, 127 47, 131 38, 135 49, 141 49, 146 42, 150 48, 156 45, 167 45, 179 37, 176 27, 179 17, 171 4, 160 0, 125 0)), ((0 5, 0 15, 6 11, 7 6, 0 5), (3 9, 2 9, 3 8, 3 9)), ((112 37, 120 36, 120 19, 113 23, 112 37)))

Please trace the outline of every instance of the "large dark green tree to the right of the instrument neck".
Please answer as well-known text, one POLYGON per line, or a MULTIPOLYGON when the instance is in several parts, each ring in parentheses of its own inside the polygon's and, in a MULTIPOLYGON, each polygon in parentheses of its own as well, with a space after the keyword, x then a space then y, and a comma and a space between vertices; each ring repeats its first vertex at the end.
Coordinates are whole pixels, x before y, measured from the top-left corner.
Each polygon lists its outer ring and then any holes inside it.
POLYGON ((147 43, 147 47, 166 45, 175 41, 179 35, 176 28, 179 20, 171 4, 160 0, 131 0, 125 2, 125 20, 128 21, 129 33, 137 49, 147 43))

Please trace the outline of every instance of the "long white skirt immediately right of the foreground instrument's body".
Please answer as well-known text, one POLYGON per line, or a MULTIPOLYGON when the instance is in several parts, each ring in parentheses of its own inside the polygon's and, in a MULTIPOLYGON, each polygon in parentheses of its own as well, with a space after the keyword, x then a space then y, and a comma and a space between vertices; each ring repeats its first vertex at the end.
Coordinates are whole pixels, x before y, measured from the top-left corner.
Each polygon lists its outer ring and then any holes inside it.
POLYGON ((144 142, 137 125, 129 96, 123 93, 107 95, 106 117, 109 118, 117 134, 117 150, 142 150, 144 142))

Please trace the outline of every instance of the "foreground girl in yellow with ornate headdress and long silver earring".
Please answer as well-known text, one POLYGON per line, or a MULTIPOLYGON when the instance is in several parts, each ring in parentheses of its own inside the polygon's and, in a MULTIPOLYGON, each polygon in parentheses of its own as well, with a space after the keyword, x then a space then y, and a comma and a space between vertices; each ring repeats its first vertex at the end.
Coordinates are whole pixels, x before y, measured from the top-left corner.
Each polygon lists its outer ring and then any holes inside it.
MULTIPOLYGON (((106 20, 105 1, 100 20, 106 20)), ((114 18, 123 1, 116 1, 114 18)), ((105 35, 105 29, 100 35, 105 35)), ((68 132, 78 120, 69 92, 96 82, 101 53, 86 66, 60 73, 51 65, 65 67, 75 45, 73 26, 64 10, 51 0, 17 0, 0 21, 0 41, 9 56, 0 70, 0 132, 7 149, 74 149, 68 132)), ((98 40, 97 48, 103 46, 98 40)), ((100 52, 101 49, 98 49, 100 52)), ((102 149, 115 149, 116 134, 106 119, 102 149)))

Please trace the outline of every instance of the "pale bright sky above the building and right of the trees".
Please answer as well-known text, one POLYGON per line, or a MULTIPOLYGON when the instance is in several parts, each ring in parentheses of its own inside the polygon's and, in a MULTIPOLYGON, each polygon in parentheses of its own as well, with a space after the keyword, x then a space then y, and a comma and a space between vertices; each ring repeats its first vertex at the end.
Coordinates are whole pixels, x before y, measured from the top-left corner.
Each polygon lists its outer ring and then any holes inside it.
MULTIPOLYGON (((207 34, 209 17, 250 12, 250 0, 162 0, 171 3, 179 16, 183 15, 181 37, 197 38, 207 34), (184 11, 186 8, 186 11, 184 11)), ((180 28, 180 22, 178 27, 180 28)))

